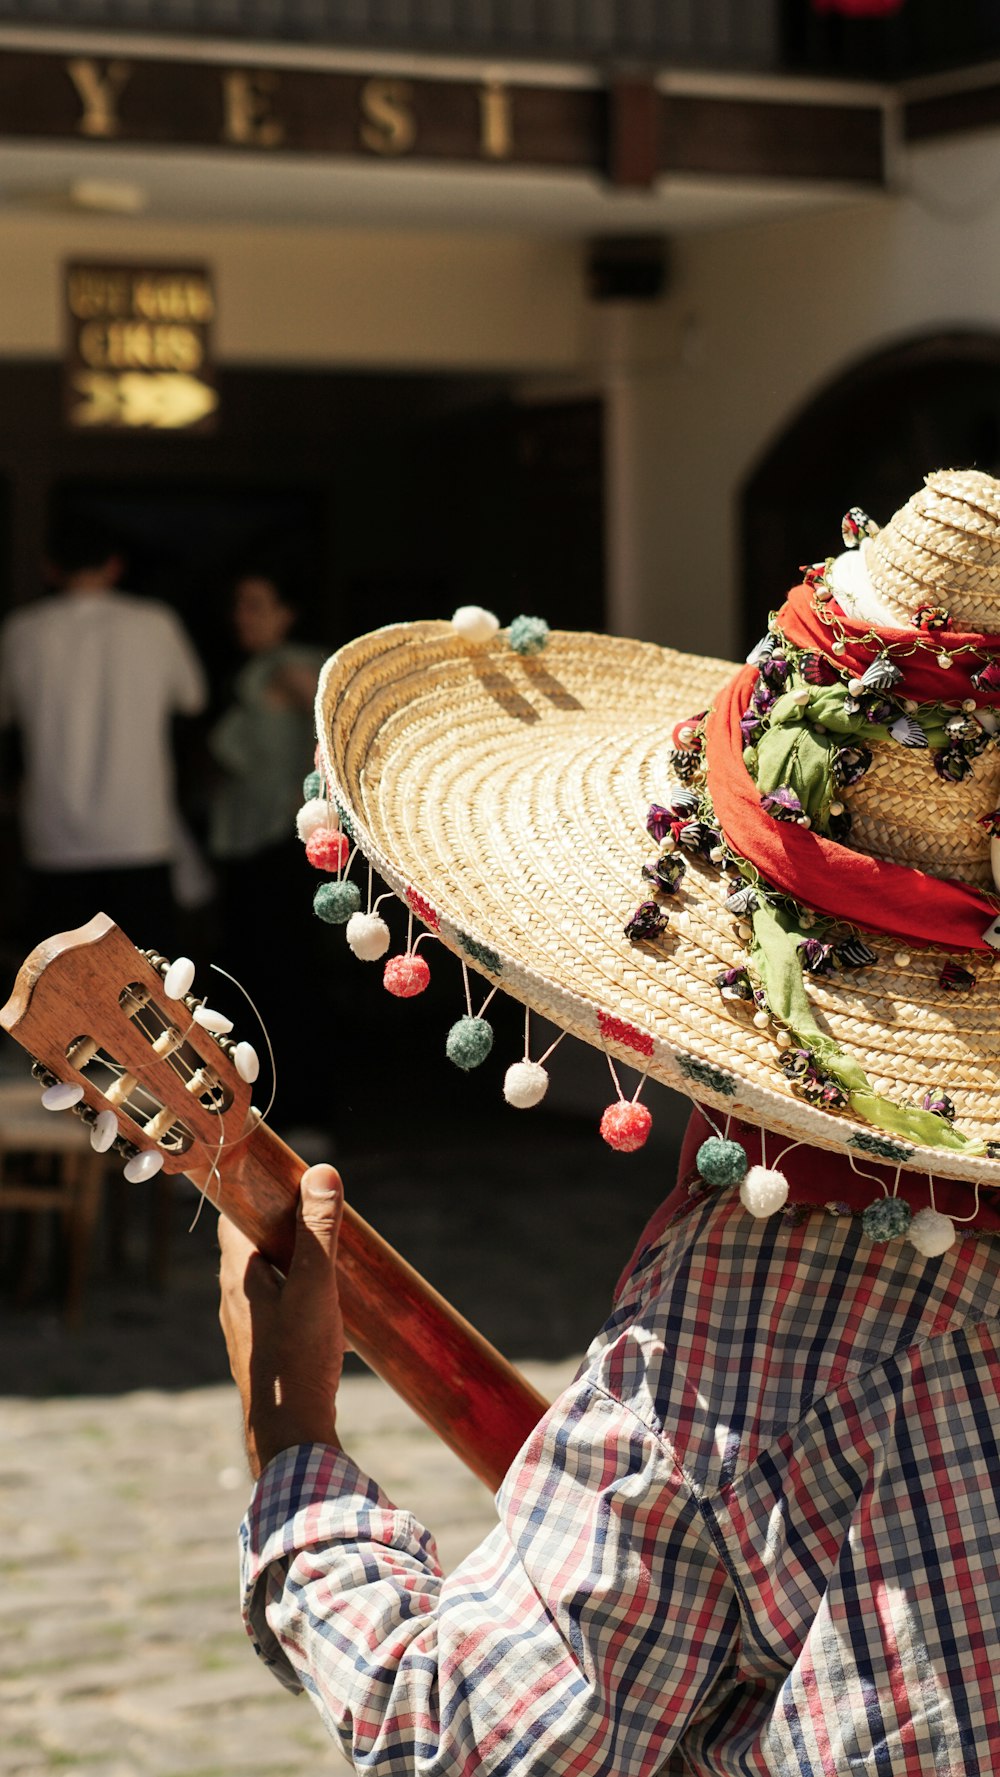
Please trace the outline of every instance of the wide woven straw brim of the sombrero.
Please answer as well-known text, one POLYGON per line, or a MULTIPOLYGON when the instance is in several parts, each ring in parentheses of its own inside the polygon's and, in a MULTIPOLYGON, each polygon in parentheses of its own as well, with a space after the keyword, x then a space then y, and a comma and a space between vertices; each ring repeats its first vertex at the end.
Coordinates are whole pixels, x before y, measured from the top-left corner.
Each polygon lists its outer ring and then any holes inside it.
MULTIPOLYGON (((469 645, 451 624, 398 624, 327 663, 316 700, 321 766, 343 825, 425 926, 490 984, 616 1063, 789 1141, 895 1159, 1000 1185, 1000 1162, 886 1141, 796 1096, 774 1031, 723 1000, 746 961, 726 885, 698 858, 670 929, 634 944, 648 897, 652 801, 670 796, 671 732, 739 668, 616 636, 556 631, 513 654, 501 631, 469 645)), ((877 929, 877 910, 872 910, 877 929)), ((810 977, 817 1022, 874 1091, 918 1105, 933 1084, 963 1132, 1000 1136, 1000 970, 947 995, 934 947, 895 965, 810 977)), ((515 1056, 512 1061, 519 1059, 515 1056)), ((629 1086, 634 1080, 629 1079, 629 1086)))

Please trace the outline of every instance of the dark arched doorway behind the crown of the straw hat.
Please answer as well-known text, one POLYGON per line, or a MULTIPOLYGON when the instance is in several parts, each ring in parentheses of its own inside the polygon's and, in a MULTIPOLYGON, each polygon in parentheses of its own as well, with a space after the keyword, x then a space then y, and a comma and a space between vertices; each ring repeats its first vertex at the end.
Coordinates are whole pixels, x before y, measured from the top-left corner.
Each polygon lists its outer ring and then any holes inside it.
POLYGON ((792 419, 742 490, 746 645, 799 565, 842 547, 847 506, 885 522, 941 467, 1000 473, 1000 334, 938 332, 879 352, 792 419))

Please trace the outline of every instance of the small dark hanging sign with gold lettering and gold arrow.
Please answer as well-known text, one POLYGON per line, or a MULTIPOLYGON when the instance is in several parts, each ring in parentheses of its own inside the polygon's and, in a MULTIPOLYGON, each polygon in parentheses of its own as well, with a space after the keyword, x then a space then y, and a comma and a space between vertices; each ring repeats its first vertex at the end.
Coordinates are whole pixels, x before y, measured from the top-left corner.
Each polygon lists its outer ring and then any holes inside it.
POLYGON ((67 265, 66 316, 71 426, 211 430, 218 393, 206 267, 67 265))

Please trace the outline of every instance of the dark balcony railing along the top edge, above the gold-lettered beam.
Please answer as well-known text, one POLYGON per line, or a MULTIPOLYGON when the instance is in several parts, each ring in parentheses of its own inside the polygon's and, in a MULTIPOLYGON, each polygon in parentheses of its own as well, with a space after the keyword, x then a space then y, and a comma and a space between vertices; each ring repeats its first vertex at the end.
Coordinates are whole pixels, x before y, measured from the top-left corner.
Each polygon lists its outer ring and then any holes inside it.
POLYGON ((876 80, 1000 59, 998 0, 0 0, 0 23, 876 80))

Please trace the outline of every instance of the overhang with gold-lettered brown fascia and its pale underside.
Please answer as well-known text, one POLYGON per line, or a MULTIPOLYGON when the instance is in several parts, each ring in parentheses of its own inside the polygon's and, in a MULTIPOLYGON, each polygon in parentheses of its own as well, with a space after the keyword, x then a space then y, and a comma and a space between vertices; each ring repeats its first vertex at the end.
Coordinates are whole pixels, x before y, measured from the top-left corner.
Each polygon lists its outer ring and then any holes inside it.
POLYGON ((886 181, 877 85, 0 30, 0 203, 664 233, 886 181), (78 199, 76 199, 78 203, 78 199))

